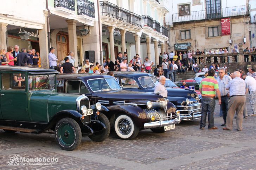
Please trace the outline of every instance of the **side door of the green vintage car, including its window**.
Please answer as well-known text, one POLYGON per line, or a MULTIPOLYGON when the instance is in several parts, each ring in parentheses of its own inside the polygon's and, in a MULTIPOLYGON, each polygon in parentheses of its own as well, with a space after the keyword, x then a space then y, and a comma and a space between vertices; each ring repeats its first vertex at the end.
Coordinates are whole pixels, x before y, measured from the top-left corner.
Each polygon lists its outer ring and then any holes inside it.
POLYGON ((0 101, 5 120, 30 121, 25 80, 21 73, 1 74, 0 101))

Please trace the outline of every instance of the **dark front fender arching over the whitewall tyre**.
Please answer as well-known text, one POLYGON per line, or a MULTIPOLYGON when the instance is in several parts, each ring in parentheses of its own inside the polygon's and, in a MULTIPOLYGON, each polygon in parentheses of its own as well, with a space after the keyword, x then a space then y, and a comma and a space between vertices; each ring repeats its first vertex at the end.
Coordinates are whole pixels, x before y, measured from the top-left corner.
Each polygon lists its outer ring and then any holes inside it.
POLYGON ((139 128, 143 128, 144 124, 148 122, 146 112, 139 106, 124 104, 109 106, 107 108, 109 110, 108 112, 103 110, 101 113, 108 117, 111 127, 114 126, 117 116, 122 114, 131 117, 139 128))

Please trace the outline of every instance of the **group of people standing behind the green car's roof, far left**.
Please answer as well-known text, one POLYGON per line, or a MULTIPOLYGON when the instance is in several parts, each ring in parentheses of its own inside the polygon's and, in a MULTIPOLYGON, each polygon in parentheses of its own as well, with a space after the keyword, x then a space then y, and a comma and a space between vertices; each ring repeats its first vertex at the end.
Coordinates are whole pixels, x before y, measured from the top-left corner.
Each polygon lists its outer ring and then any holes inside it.
POLYGON ((0 65, 3 66, 27 66, 27 67, 41 67, 40 54, 35 49, 21 48, 15 45, 8 46, 7 49, 0 50, 0 65))

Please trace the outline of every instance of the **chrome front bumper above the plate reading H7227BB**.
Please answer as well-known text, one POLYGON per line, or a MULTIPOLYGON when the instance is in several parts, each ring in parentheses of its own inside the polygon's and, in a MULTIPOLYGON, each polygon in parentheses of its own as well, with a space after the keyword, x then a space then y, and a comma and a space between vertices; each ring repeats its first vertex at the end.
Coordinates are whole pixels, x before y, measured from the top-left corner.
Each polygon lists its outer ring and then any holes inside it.
POLYGON ((144 124, 144 129, 161 128, 161 127, 164 127, 164 126, 180 123, 180 121, 181 121, 180 115, 177 114, 177 117, 173 120, 170 120, 170 121, 156 121, 156 122, 145 123, 144 124))

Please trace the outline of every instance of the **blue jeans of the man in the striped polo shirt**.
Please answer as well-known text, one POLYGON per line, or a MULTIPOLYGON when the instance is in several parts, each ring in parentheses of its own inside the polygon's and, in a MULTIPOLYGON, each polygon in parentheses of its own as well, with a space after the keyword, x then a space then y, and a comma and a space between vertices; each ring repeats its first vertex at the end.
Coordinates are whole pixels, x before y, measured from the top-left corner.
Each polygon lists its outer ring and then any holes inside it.
POLYGON ((202 116, 200 121, 200 127, 205 127, 206 116, 208 112, 208 128, 214 127, 213 111, 215 109, 215 99, 212 98, 203 98, 202 97, 202 116))

